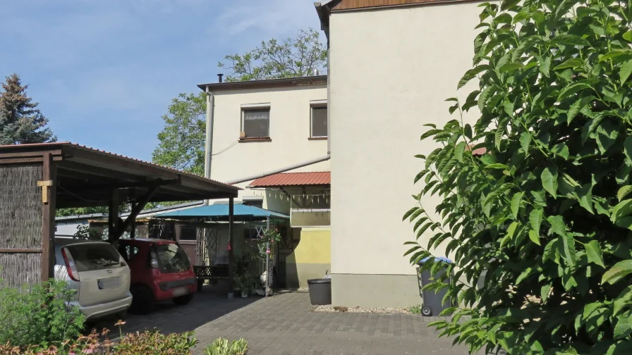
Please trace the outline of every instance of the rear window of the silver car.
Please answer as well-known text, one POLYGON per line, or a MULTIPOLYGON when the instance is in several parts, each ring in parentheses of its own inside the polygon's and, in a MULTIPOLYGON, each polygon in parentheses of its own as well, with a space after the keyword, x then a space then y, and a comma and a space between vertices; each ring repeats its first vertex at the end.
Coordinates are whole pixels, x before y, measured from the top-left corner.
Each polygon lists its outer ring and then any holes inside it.
POLYGON ((75 261, 78 272, 120 268, 121 256, 110 244, 85 243, 66 247, 75 261))

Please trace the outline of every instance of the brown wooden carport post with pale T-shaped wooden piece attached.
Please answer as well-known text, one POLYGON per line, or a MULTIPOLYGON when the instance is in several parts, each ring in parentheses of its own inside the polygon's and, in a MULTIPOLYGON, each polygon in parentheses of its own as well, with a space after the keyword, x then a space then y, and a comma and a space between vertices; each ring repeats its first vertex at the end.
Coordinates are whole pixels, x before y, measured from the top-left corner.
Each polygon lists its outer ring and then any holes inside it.
POLYGON ((42 157, 42 281, 55 276, 56 169, 50 152, 42 157))

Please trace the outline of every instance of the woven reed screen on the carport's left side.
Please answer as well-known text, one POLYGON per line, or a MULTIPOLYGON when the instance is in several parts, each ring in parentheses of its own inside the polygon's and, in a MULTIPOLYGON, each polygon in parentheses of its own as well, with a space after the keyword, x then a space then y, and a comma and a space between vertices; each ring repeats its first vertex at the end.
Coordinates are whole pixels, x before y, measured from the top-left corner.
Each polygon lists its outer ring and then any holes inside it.
MULTIPOLYGON (((41 165, 0 166, 0 249, 42 248, 41 165)), ((0 253, 0 280, 32 286, 42 275, 42 254, 0 253)), ((0 284, 1 287, 2 284, 0 284)))

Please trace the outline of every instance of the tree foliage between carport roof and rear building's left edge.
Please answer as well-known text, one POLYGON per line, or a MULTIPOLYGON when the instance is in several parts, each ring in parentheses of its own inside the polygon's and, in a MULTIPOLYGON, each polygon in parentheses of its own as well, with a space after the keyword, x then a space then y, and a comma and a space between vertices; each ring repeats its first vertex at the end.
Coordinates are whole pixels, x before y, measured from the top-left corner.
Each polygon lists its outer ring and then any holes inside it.
POLYGON ((204 175, 206 94, 179 94, 162 116, 164 129, 154 150, 154 163, 204 175))

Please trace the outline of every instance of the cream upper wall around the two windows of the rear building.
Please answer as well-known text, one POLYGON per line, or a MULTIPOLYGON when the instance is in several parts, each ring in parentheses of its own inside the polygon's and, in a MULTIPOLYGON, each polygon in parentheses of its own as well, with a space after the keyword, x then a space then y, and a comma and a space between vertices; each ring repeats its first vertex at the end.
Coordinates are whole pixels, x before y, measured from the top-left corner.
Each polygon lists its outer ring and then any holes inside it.
MULTIPOLYGON (((229 182, 266 173, 327 154, 327 140, 310 140, 310 101, 327 99, 327 85, 214 91, 211 178, 229 182), (272 142, 237 142, 241 132, 241 105, 270 103, 272 142)), ((288 172, 329 171, 329 161, 288 172)), ((252 180, 237 184, 245 188, 252 180)), ((239 198, 258 196, 264 208, 287 213, 288 201, 280 194, 244 189, 239 198), (272 197, 269 199, 269 197, 272 197)))

